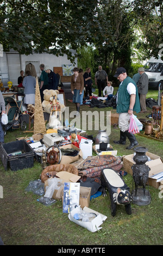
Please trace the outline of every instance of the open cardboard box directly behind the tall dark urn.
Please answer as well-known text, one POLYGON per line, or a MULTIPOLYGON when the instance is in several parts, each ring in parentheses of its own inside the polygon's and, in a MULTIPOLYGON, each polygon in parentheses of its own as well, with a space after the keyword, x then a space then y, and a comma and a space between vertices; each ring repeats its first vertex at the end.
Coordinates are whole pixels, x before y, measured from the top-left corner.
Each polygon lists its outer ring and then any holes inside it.
MULTIPOLYGON (((149 171, 148 184, 152 187, 159 188, 160 182, 156 182, 156 179, 151 178, 153 175, 163 172, 163 162, 157 155, 147 152, 146 155, 150 157, 151 161, 147 161, 146 164, 151 168, 149 171)), ((135 164, 133 160, 134 154, 123 156, 123 169, 133 175, 131 167, 135 164)))

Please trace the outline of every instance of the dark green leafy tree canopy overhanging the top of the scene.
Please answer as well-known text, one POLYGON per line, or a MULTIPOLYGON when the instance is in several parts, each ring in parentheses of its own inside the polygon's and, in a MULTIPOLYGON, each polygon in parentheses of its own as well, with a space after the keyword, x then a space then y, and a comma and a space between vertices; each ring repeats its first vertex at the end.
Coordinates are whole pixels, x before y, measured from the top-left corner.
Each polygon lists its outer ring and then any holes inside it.
POLYGON ((4 51, 27 55, 65 53, 72 62, 70 49, 90 44, 105 66, 129 65, 132 46, 142 56, 158 56, 162 5, 162 0, 0 1, 0 44, 4 51))

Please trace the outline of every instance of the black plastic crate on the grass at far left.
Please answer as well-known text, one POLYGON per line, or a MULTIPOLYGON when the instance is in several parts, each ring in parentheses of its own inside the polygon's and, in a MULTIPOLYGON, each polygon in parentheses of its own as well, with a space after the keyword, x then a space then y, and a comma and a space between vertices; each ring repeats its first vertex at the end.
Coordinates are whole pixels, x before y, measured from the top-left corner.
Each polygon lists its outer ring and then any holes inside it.
POLYGON ((10 168, 12 171, 32 168, 34 166, 34 150, 30 148, 29 144, 21 139, 20 141, 9 142, 1 144, 0 157, 4 169, 10 168), (21 154, 15 154, 21 151, 21 154))

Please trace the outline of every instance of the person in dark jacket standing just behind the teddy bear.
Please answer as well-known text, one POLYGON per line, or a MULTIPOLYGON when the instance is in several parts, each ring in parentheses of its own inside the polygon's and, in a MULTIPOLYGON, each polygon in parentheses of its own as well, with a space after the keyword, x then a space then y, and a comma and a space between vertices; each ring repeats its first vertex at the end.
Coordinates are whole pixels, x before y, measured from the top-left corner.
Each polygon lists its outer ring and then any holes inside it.
POLYGON ((49 68, 49 66, 45 66, 44 70, 48 74, 48 90, 58 90, 58 76, 49 68))

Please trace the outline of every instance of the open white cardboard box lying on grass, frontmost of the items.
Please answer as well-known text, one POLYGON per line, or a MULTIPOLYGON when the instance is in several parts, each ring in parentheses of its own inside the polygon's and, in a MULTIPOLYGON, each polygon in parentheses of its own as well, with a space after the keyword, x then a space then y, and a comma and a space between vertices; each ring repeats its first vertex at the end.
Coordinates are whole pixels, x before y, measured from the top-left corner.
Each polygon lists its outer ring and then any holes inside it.
POLYGON ((102 229, 102 227, 100 226, 103 224, 103 222, 106 220, 107 217, 105 215, 100 214, 97 211, 87 208, 86 206, 83 208, 83 210, 89 213, 93 212, 97 215, 97 217, 93 218, 93 220, 91 220, 90 222, 82 222, 82 221, 76 220, 73 216, 78 212, 78 208, 75 208, 73 211, 70 212, 70 214, 68 214, 69 220, 80 225, 83 228, 86 228, 91 232, 96 232, 99 229, 102 229))

